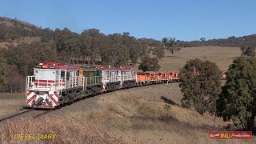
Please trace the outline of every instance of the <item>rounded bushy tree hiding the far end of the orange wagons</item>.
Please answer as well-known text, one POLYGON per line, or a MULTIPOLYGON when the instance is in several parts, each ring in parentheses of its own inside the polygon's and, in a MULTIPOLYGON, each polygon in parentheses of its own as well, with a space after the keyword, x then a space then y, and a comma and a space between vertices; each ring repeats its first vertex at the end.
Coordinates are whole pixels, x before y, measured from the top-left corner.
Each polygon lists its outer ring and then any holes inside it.
POLYGON ((182 106, 195 107, 199 114, 215 112, 215 102, 221 92, 221 71, 210 61, 198 58, 186 62, 180 71, 182 106))

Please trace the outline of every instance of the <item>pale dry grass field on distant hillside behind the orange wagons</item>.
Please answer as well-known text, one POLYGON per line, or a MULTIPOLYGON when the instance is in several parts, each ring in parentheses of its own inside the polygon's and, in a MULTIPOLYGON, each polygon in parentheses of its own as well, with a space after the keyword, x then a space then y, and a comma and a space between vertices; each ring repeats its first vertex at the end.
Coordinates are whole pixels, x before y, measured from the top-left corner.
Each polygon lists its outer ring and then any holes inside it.
MULTIPOLYGON (((221 46, 199 46, 182 48, 181 51, 174 55, 166 51, 165 58, 160 63, 161 70, 171 71, 179 70, 186 61, 193 58, 210 60, 215 62, 221 70, 227 70, 234 57, 241 55, 239 47, 221 47, 221 46)), ((161 71, 160 70, 160 71, 161 71)))

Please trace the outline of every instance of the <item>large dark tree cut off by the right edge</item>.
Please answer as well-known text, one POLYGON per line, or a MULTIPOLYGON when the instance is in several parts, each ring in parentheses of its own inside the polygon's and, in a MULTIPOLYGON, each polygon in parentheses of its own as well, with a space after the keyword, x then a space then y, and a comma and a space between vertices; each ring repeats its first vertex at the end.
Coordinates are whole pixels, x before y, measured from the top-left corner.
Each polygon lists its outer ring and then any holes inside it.
POLYGON ((227 71, 217 101, 218 116, 243 130, 253 130, 256 116, 256 58, 238 57, 227 71))

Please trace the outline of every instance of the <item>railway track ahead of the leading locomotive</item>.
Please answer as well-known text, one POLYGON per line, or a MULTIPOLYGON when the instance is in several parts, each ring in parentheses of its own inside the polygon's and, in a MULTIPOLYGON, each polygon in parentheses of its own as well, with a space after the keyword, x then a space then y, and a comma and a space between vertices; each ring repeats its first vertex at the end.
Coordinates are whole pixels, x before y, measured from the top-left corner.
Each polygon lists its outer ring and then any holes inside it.
POLYGON ((34 110, 34 109, 25 109, 20 110, 14 114, 8 114, 0 118, 0 122, 10 120, 12 118, 38 118, 44 114, 50 113, 52 110, 34 110))

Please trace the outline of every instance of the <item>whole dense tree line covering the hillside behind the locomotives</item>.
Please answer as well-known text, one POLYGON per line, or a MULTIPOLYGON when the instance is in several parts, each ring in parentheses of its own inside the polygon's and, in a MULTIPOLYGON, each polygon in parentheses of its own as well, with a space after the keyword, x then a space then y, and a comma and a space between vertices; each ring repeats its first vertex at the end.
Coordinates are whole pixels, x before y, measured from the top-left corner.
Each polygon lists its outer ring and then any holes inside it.
POLYGON ((63 30, 41 29, 0 18, 0 41, 38 36, 41 42, 21 43, 2 49, 0 56, 5 59, 5 83, 2 91, 15 92, 24 88, 27 75, 33 74, 34 66, 40 62, 62 62, 64 64, 89 64, 105 66, 127 66, 138 63, 143 71, 160 68, 158 62, 165 50, 171 50, 172 43, 163 43, 150 38, 134 38, 128 32, 123 34, 102 34, 100 30, 83 30, 81 34, 63 30))

